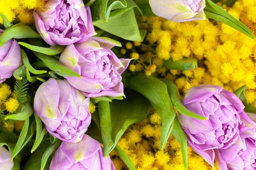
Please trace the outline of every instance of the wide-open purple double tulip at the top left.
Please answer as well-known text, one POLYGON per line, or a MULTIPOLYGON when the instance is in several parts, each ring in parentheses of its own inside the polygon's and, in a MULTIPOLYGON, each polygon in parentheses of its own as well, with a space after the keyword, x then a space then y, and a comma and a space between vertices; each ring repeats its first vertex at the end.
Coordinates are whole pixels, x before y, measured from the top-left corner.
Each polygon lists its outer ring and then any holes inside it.
POLYGON ((46 0, 34 17, 38 33, 52 46, 81 43, 96 34, 82 0, 46 0))

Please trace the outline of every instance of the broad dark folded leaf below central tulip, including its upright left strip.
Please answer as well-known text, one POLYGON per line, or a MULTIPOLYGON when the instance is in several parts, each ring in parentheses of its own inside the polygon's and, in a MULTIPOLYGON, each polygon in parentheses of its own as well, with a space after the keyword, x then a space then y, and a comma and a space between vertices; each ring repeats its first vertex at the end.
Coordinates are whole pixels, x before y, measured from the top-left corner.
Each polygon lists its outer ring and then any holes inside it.
POLYGON ((98 102, 98 114, 92 114, 92 119, 101 129, 104 149, 106 148, 105 155, 115 148, 126 129, 131 124, 146 119, 150 110, 151 104, 144 96, 129 89, 125 93, 127 97, 124 100, 98 102), (108 105, 103 107, 102 103, 108 105))

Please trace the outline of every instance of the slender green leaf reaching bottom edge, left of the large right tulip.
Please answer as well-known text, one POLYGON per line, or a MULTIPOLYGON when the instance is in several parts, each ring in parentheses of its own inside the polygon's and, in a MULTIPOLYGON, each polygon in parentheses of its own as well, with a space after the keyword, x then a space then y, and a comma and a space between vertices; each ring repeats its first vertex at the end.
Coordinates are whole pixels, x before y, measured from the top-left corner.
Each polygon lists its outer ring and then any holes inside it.
POLYGON ((172 135, 178 140, 182 147, 182 157, 185 170, 188 169, 187 165, 187 137, 183 131, 183 128, 177 117, 174 119, 174 126, 172 129, 172 135))

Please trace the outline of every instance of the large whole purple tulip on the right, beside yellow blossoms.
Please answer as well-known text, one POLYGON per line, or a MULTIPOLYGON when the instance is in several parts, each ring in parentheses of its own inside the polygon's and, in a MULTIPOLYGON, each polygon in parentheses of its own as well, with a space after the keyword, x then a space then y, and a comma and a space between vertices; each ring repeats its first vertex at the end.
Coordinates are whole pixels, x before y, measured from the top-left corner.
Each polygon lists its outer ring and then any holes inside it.
MULTIPOLYGON (((217 85, 198 85, 188 90, 184 106, 208 120, 179 114, 191 148, 214 166, 214 149, 226 149, 239 140, 240 113, 244 105, 238 97, 217 85)), ((241 119, 244 119, 241 115, 241 119)))

